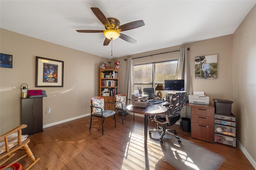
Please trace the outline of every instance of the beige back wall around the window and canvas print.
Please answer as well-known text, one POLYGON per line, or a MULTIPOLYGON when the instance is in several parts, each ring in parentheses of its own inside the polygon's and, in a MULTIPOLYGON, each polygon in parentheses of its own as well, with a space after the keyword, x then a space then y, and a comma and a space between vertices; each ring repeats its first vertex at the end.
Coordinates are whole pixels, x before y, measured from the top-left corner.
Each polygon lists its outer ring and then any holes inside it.
MULTIPOLYGON (((167 51, 176 51, 181 47, 189 47, 188 57, 190 62, 191 79, 192 79, 192 92, 193 91, 204 91, 205 95, 210 97, 210 103, 214 101, 212 99, 229 99, 233 100, 233 84, 232 84, 232 35, 222 36, 218 38, 212 38, 208 40, 187 43, 184 45, 178 45, 165 49, 159 49, 146 53, 140 53, 127 57, 142 57, 150 54, 164 53, 167 51), (195 57, 204 55, 218 55, 218 66, 217 66, 217 78, 216 79, 195 79, 195 57), (227 63, 228 67, 227 67, 227 63)), ((120 73, 126 70, 126 59, 127 57, 118 58, 120 61, 120 73)), ((166 61, 170 59, 177 59, 178 52, 165 53, 161 55, 154 55, 153 57, 143 57, 134 59, 134 64, 150 63, 156 61, 166 61)), ((120 93, 125 92, 125 76, 120 76, 120 93)))

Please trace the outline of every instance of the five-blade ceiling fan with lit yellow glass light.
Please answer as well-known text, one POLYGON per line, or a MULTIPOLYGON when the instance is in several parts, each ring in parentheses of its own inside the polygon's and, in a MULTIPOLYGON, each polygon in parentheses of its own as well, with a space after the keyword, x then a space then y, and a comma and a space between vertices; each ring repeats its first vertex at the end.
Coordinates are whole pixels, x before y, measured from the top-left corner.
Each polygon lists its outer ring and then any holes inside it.
POLYGON ((136 43, 137 41, 133 38, 126 36, 125 34, 120 33, 121 31, 132 30, 144 26, 143 20, 138 20, 134 22, 129 22, 120 26, 120 22, 116 18, 106 18, 99 8, 91 8, 92 12, 96 17, 102 22, 106 30, 76 30, 77 32, 84 33, 99 33, 103 32, 106 37, 103 45, 108 45, 110 41, 115 40, 116 38, 121 38, 122 40, 129 43, 136 43))

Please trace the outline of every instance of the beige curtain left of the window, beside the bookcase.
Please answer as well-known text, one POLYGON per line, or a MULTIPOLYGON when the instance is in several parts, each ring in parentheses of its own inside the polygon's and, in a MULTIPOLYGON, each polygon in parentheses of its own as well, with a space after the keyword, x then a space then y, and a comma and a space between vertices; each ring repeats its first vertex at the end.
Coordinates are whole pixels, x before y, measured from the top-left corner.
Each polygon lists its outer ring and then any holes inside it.
POLYGON ((127 99, 132 99, 133 93, 133 60, 127 59, 126 63, 126 76, 125 76, 125 95, 127 99))

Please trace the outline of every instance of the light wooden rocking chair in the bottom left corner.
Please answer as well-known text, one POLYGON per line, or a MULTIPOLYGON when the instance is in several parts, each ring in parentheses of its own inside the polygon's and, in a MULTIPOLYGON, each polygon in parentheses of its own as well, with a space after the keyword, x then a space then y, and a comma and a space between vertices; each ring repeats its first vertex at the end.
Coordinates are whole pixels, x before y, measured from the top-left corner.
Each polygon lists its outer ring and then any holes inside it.
MULTIPOLYGON (((26 154, 24 154, 23 156, 21 156, 20 158, 18 158, 16 160, 14 160, 7 166, 5 166, 4 169, 10 167, 12 164, 14 164, 15 162, 24 158, 25 156, 28 156, 28 158, 30 158, 30 160, 32 161, 32 163, 26 169, 30 169, 34 164, 36 164, 36 162, 38 162, 38 160, 40 160, 40 158, 35 159, 32 151, 30 150, 30 148, 28 146, 28 143, 30 142, 30 138, 26 138, 26 140, 22 141, 22 129, 26 128, 26 127, 27 127, 27 125, 24 125, 24 124, 20 125, 20 126, 12 129, 9 132, 6 132, 5 134, 0 136, 1 142, 2 142, 2 140, 4 140, 4 143, 5 143, 5 151, 2 154, 0 154, 0 160, 1 160, 0 166, 2 166, 5 162, 10 160, 15 155, 15 153, 14 153, 15 151, 17 151, 19 149, 23 149, 26 152, 26 154), (10 136, 12 136, 14 133, 17 133, 17 132, 18 132, 18 137, 16 138, 15 142, 10 141, 10 136), (12 144, 12 146, 11 146, 11 144, 12 144)), ((1 150, 2 150, 2 148, 1 148, 1 150)))

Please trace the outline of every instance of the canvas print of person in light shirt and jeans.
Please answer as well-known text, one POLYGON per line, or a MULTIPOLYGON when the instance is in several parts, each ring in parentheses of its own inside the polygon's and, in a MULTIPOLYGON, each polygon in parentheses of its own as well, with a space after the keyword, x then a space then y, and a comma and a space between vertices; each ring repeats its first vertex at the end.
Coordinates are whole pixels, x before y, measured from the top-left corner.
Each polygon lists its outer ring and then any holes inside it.
POLYGON ((217 55, 205 55, 195 58, 195 79, 217 78, 217 55))

